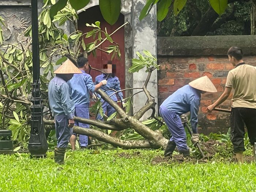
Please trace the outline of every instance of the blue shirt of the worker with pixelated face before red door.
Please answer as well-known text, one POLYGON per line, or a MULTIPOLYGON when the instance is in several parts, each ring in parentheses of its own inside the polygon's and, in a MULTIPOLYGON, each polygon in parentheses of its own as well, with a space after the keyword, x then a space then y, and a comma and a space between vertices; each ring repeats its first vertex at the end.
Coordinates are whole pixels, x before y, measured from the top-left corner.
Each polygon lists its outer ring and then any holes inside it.
MULTIPOLYGON (((102 75, 98 75, 96 78, 95 78, 95 84, 98 84, 100 83, 102 80, 105 80, 107 78, 107 76, 105 74, 102 74, 102 75)), ((108 79, 107 79, 107 84, 106 85, 103 85, 101 86, 101 90, 102 91, 105 91, 106 94, 108 94, 108 96, 112 95, 113 93, 115 93, 115 91, 113 90, 108 90, 108 89, 114 89, 116 91, 120 91, 121 88, 120 88, 120 81, 118 79, 117 76, 109 76, 108 79)), ((121 98, 121 100, 123 100, 123 93, 122 91, 118 92, 117 93, 119 95, 119 97, 121 98)), ((110 97, 113 101, 117 101, 117 97, 116 97, 116 94, 112 95, 110 97)))

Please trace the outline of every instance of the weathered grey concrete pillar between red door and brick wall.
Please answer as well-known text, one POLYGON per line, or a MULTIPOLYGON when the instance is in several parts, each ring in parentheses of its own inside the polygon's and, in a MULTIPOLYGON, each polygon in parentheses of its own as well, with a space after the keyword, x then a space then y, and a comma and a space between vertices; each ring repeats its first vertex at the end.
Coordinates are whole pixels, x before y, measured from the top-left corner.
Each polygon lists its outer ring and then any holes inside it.
MULTIPOLYGON (((157 7, 153 6, 150 13, 141 21, 139 21, 140 11, 146 4, 146 0, 133 0, 132 1, 132 56, 138 58, 136 52, 142 52, 148 50, 153 56, 157 55, 157 7)), ((146 69, 140 70, 138 73, 133 74, 133 88, 142 87, 145 79, 147 78, 146 69)), ((147 86, 148 91, 155 97, 155 102, 158 102, 157 98, 157 70, 155 70, 150 78, 150 82, 147 86)), ((133 90, 133 94, 138 90, 133 90)), ((144 93, 136 94, 133 97, 133 113, 137 112, 142 106, 145 105, 147 97, 144 93)), ((152 110, 145 113, 141 120, 150 117, 152 110)), ((156 105, 156 114, 158 114, 158 107, 156 105)))

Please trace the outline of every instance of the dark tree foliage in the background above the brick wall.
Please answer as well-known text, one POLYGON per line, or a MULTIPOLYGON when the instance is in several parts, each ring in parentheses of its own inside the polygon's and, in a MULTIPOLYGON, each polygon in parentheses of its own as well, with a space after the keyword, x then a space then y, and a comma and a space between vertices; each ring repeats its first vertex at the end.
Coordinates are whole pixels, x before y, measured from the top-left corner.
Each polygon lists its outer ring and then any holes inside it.
MULTIPOLYGON (((197 12, 188 4, 177 16, 169 11, 166 18, 158 22, 158 36, 190 36, 209 8, 208 0, 196 0, 195 5, 197 12)), ((250 35, 251 6, 251 1, 228 4, 214 23, 205 26, 206 35, 250 35)))

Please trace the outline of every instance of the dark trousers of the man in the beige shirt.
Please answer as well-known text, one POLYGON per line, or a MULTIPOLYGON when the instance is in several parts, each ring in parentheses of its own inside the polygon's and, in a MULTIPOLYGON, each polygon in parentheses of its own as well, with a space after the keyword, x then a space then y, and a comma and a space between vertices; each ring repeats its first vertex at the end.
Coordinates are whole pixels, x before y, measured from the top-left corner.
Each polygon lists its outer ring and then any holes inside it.
POLYGON ((232 108, 230 118, 231 142, 234 146, 234 153, 245 151, 244 147, 244 125, 248 131, 250 143, 256 142, 256 109, 251 108, 232 108))

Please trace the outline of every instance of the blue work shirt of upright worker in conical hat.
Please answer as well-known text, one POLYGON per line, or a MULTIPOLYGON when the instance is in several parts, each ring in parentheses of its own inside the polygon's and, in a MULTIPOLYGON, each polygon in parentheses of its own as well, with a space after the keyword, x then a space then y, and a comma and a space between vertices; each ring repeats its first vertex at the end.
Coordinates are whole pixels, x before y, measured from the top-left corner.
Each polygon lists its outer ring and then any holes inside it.
POLYGON ((52 115, 56 120, 64 117, 73 118, 75 104, 65 80, 57 76, 54 77, 48 85, 48 96, 52 115))

